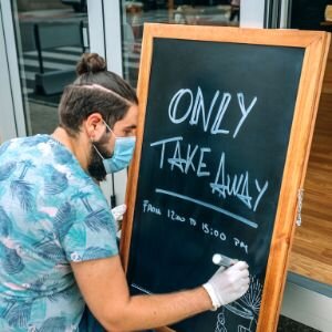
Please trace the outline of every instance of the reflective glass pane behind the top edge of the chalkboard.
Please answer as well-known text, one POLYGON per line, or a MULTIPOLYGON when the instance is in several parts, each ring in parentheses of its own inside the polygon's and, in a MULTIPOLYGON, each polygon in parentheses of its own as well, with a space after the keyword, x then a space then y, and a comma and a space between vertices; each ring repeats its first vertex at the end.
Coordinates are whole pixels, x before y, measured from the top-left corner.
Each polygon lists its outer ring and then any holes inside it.
POLYGON ((122 2, 123 73, 137 85, 144 22, 239 25, 240 0, 141 0, 122 2))

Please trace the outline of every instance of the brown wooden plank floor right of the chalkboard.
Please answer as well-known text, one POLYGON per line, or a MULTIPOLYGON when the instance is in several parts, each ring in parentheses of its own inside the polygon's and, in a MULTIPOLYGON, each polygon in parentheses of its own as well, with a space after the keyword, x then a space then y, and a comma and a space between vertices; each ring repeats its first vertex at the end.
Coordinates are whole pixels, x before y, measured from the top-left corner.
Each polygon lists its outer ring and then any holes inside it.
MULTIPOLYGON (((302 225, 297 228, 289 271, 309 278, 308 288, 332 292, 332 49, 329 50, 322 94, 304 181, 302 225), (318 283, 319 282, 319 283, 318 283)), ((304 279, 305 280, 305 279, 304 279)))

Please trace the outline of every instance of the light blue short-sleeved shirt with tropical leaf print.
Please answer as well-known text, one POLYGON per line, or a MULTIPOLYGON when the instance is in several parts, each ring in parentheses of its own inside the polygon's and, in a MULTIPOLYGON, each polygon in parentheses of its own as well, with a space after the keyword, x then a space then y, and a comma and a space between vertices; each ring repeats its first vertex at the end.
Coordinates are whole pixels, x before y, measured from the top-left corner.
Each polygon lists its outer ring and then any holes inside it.
POLYGON ((0 331, 79 331, 71 261, 117 255, 105 197, 49 135, 0 146, 0 331))

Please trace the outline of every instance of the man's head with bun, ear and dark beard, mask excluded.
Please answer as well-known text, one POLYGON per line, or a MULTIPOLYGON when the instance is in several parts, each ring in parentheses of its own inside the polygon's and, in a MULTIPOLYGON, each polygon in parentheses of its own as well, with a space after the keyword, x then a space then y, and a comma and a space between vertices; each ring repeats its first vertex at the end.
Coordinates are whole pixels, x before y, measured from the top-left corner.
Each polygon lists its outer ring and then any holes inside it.
POLYGON ((106 172, 94 147, 110 158, 116 137, 135 135, 138 100, 134 89, 106 71, 104 60, 95 53, 82 56, 77 73, 80 76, 65 87, 60 102, 60 127, 73 138, 84 135, 91 142, 87 169, 102 180, 106 172))

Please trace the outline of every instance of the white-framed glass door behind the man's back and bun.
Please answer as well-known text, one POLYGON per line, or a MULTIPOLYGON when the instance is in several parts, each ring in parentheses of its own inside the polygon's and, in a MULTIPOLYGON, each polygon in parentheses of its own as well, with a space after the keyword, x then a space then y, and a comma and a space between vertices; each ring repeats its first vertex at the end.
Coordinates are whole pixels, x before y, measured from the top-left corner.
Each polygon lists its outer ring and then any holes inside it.
MULTIPOLYGON (((102 0, 0 0, 0 142, 54 131, 61 93, 75 79, 81 54, 105 58, 103 22, 102 0)), ((111 176, 102 188, 115 197, 111 176)))

